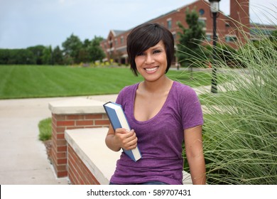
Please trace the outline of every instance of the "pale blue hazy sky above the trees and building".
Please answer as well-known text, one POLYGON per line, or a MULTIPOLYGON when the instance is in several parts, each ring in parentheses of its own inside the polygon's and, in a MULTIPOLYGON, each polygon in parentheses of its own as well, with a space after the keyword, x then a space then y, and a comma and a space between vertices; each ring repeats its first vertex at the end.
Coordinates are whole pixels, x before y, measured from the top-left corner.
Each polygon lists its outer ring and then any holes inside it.
MULTIPOLYGON (((0 48, 62 47, 71 34, 81 41, 127 31, 195 0, 0 0, 0 48)), ((229 1, 219 9, 229 15, 229 1)), ((276 0, 250 0, 252 23, 277 24, 276 0), (275 10, 275 11, 274 11, 275 10)))

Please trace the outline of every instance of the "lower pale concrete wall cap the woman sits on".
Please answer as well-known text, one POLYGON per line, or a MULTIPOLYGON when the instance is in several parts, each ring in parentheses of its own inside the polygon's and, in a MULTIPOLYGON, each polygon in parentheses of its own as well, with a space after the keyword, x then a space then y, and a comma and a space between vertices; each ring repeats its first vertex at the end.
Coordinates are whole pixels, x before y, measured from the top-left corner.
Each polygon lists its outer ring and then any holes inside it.
POLYGON ((65 130, 65 140, 102 185, 109 184, 121 151, 114 152, 105 144, 108 128, 65 130))

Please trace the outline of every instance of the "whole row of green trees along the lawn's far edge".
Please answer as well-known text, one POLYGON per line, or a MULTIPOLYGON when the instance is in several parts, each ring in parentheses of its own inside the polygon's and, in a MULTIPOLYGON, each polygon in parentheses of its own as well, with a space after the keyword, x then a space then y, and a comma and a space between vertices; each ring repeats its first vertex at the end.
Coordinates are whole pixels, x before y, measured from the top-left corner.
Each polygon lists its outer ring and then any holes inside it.
POLYGON ((82 43, 80 38, 71 35, 59 46, 36 45, 26 49, 0 49, 0 64, 34 64, 34 65, 72 65, 102 60, 105 53, 100 47, 102 37, 94 36, 82 43))

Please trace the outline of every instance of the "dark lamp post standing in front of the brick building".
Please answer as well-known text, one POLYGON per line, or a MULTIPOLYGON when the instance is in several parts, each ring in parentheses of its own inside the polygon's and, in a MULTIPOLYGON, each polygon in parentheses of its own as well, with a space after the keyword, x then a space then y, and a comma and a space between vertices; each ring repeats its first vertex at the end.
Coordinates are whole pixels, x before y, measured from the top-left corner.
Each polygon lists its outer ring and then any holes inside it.
MULTIPOLYGON (((217 46, 217 14, 219 11, 219 1, 220 0, 209 0, 212 12, 212 62, 215 63, 215 48, 217 46)), ((212 65, 212 93, 217 93, 217 68, 212 65)))

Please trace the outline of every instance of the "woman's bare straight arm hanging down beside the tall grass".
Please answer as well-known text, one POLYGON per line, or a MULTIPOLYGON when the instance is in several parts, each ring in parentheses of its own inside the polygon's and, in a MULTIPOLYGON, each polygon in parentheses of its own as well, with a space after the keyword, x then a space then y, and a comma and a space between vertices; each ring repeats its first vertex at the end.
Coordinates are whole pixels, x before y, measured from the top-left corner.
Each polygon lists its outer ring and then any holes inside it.
POLYGON ((190 176, 194 185, 206 184, 205 158, 202 146, 202 126, 184 130, 185 153, 190 166, 190 176))

